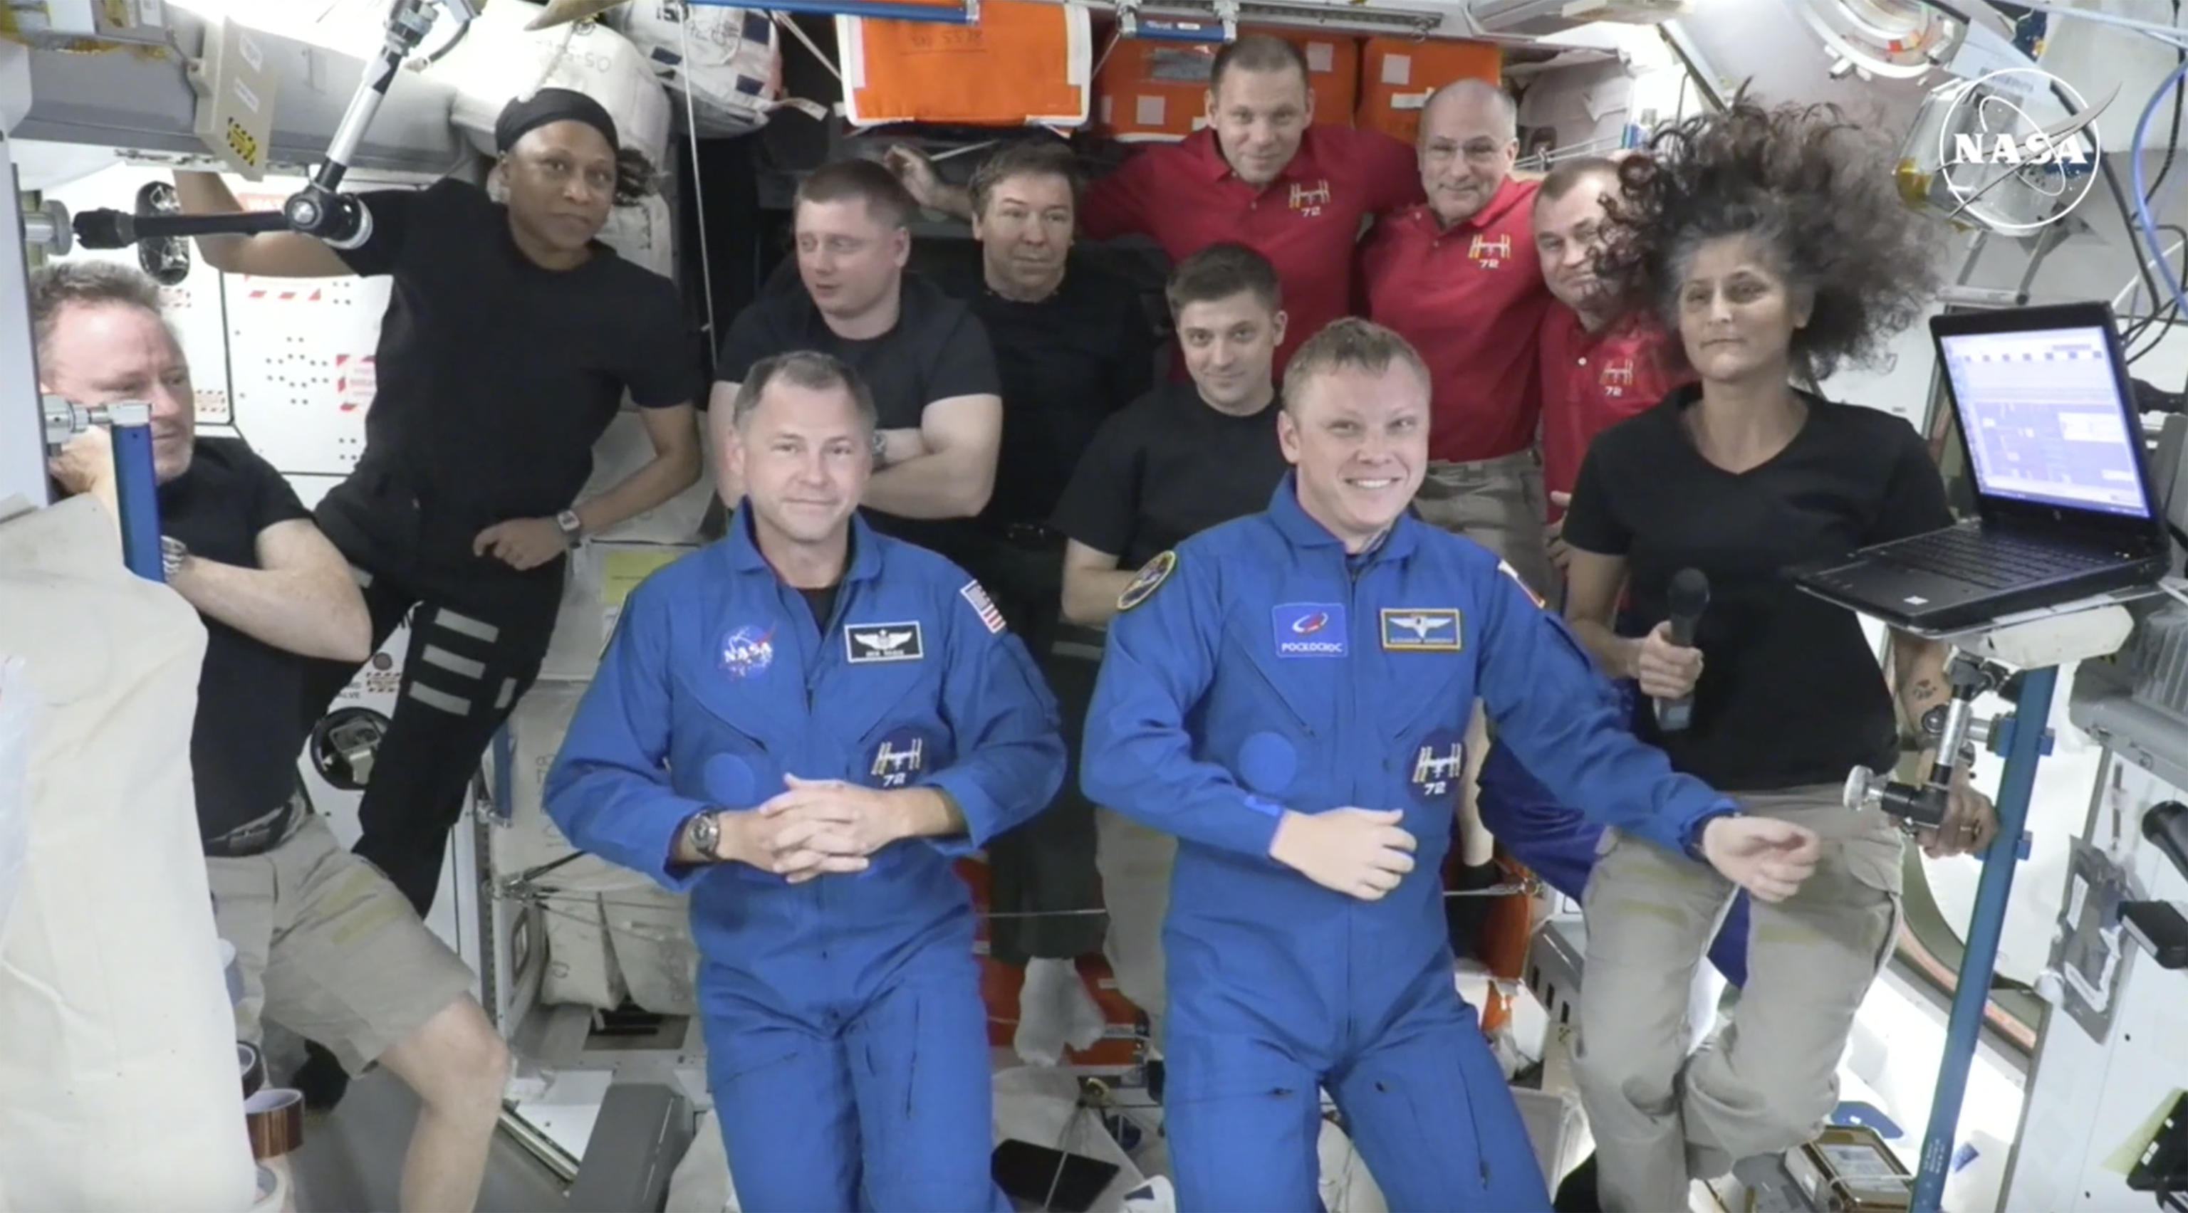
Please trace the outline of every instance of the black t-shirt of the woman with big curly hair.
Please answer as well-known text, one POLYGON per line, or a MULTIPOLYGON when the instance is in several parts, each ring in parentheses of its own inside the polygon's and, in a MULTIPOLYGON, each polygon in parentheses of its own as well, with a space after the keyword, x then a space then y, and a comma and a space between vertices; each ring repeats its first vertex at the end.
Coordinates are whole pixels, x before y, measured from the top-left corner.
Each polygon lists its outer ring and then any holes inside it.
POLYGON ((1950 527, 1930 450, 1890 413, 1805 396, 1792 444, 1735 476, 1702 459, 1680 422, 1698 398, 1698 387, 1678 389, 1604 431, 1564 516, 1564 542, 1626 557, 1634 634, 1669 616, 1680 568, 1709 577, 1694 721, 1663 734, 1641 704, 1641 739, 1724 791, 1890 767, 1893 699, 1860 619, 1796 590, 1783 570, 1950 527))

